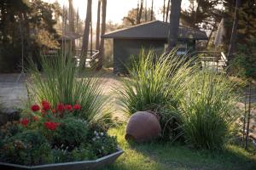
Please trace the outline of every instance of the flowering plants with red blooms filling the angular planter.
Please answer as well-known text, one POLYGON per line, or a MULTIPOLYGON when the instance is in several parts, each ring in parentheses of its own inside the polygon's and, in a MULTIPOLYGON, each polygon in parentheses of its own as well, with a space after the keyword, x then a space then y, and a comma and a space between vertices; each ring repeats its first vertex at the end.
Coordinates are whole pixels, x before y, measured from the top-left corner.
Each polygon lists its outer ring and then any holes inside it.
POLYGON ((32 105, 20 122, 1 127, 0 161, 41 165, 92 160, 116 151, 116 139, 77 117, 80 110, 79 104, 54 106, 45 100, 32 105))

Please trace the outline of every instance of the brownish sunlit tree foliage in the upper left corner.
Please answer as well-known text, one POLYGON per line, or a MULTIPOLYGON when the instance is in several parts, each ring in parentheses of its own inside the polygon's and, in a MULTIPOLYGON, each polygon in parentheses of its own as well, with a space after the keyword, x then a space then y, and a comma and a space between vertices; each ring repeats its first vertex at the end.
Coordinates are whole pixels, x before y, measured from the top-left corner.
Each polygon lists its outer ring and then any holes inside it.
POLYGON ((45 48, 56 48, 57 3, 41 0, 3 0, 0 3, 0 71, 18 71, 23 39, 24 56, 36 57, 45 48))

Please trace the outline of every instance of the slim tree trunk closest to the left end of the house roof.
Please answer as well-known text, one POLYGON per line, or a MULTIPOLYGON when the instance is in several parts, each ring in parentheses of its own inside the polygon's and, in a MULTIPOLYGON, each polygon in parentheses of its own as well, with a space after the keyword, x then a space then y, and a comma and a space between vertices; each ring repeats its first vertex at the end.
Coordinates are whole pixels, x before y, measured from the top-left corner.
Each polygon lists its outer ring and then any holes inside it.
MULTIPOLYGON (((101 35, 104 35, 106 31, 106 13, 107 13, 107 0, 102 0, 102 33, 101 35)), ((96 70, 102 69, 103 57, 104 57, 104 38, 101 38, 99 63, 96 70)))

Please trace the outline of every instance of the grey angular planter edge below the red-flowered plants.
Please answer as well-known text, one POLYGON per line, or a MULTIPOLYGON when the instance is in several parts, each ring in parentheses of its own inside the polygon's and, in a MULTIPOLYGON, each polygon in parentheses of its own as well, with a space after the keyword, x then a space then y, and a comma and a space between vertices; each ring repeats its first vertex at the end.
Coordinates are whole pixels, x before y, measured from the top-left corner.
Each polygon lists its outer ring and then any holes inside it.
POLYGON ((124 151, 118 149, 113 154, 103 156, 94 161, 73 161, 65 163, 44 164, 38 166, 23 166, 12 163, 0 162, 0 169, 3 170, 92 170, 113 163, 124 151))

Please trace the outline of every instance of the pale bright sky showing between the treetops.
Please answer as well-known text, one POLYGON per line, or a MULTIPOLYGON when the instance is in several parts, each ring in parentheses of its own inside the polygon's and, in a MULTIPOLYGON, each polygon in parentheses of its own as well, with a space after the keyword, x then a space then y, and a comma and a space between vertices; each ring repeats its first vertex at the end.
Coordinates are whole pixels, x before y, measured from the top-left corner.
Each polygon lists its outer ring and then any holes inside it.
MULTIPOLYGON (((68 7, 68 0, 57 0, 61 6, 68 7)), ((55 0, 44 0, 44 2, 53 3, 55 0)), ((82 20, 85 20, 86 15, 86 0, 73 0, 73 7, 77 10, 79 8, 79 15, 82 20)), ((92 21, 96 23, 96 11, 98 0, 92 0, 92 21)), ((148 0, 148 8, 151 7, 151 0, 148 0)), ((167 2, 167 1, 166 1, 167 2)), ((162 20, 160 8, 163 6, 164 0, 154 0, 154 11, 156 19, 162 20)), ((189 0, 182 1, 182 8, 189 7, 189 0)), ((107 21, 120 24, 125 15, 131 8, 137 8, 137 0, 108 0, 107 3, 107 21)))

